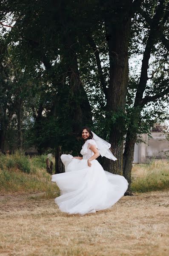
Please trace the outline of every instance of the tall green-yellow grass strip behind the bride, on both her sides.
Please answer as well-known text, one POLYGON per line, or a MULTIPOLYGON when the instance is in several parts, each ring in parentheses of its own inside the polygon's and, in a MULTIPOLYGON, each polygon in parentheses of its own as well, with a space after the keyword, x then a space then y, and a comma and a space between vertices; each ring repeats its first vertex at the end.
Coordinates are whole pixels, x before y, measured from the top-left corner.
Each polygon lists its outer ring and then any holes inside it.
MULTIPOLYGON (((40 198, 59 195, 56 183, 46 172, 46 157, 25 156, 23 151, 11 155, 0 154, 0 192, 45 192, 40 198)), ((54 163, 54 157, 52 158, 54 163)), ((167 160, 152 160, 149 164, 135 164, 132 169, 134 192, 149 192, 169 189, 169 163, 167 160)))

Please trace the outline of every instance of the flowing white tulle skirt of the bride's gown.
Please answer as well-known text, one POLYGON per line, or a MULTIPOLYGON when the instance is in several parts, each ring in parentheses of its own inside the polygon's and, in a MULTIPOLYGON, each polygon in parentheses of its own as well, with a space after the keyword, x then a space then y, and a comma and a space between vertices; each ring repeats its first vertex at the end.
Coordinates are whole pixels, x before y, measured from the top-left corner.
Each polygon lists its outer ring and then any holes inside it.
POLYGON ((126 192, 127 180, 103 170, 97 160, 89 167, 87 160, 78 160, 72 155, 61 155, 65 173, 52 175, 57 183, 60 196, 55 203, 62 212, 81 214, 95 212, 111 207, 126 192))

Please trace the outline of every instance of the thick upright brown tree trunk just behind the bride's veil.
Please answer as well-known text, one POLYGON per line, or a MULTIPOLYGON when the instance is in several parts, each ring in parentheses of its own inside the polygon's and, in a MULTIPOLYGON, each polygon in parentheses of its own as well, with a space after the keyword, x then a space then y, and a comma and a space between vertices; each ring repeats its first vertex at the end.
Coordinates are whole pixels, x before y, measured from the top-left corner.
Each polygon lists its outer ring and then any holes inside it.
POLYGON ((123 17, 121 23, 112 25, 109 17, 105 17, 106 38, 109 47, 110 75, 107 89, 106 120, 109 124, 112 151, 116 161, 104 160, 104 168, 108 172, 123 174, 123 135, 126 94, 129 79, 128 47, 131 31, 131 18, 123 17), (111 121, 114 115, 113 122, 111 121))

